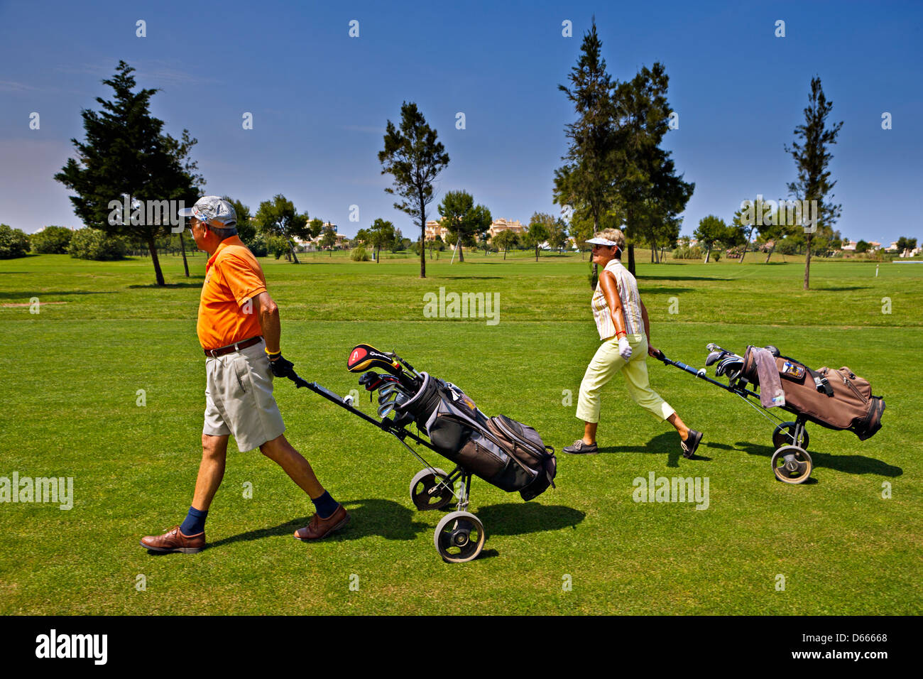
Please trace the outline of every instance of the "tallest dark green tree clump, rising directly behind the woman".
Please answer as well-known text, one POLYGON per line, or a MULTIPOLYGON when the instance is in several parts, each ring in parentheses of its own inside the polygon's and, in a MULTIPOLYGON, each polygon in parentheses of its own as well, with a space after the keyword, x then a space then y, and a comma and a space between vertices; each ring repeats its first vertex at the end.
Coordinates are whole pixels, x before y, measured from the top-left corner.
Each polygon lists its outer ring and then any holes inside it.
POLYGON ((695 189, 661 148, 676 120, 666 98, 669 78, 659 62, 641 67, 631 79, 613 78, 602 46, 593 19, 569 84, 558 85, 577 117, 565 126, 568 149, 565 164, 555 171, 554 200, 572 211, 578 240, 620 228, 631 242, 651 248, 652 261, 660 261, 659 250, 679 236, 678 214, 695 189))

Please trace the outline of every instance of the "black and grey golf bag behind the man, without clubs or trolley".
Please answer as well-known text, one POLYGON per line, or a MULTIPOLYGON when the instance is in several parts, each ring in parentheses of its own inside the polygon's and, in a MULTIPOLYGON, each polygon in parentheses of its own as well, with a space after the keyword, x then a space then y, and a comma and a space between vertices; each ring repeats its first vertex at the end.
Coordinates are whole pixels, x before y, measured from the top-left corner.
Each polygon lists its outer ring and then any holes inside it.
POLYGON ((505 415, 487 418, 451 382, 420 375, 417 393, 395 406, 395 424, 415 422, 439 455, 503 491, 519 491, 523 500, 554 486, 555 451, 537 431, 505 415))

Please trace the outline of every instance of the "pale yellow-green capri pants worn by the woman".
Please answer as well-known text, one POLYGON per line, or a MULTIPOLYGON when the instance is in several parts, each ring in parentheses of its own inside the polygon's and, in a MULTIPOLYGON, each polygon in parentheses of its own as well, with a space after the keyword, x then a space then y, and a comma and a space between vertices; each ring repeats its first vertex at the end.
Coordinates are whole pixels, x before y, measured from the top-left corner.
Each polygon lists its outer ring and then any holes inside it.
POLYGON ((586 367, 583 382, 580 384, 580 398, 577 401, 577 418, 584 422, 599 421, 600 393, 606 382, 617 372, 625 375, 629 394, 639 406, 646 408, 653 417, 660 421, 669 418, 676 411, 660 397, 647 379, 647 336, 644 334, 627 335, 631 346, 631 358, 626 363, 618 353, 618 340, 610 337, 596 349, 590 365, 586 367))

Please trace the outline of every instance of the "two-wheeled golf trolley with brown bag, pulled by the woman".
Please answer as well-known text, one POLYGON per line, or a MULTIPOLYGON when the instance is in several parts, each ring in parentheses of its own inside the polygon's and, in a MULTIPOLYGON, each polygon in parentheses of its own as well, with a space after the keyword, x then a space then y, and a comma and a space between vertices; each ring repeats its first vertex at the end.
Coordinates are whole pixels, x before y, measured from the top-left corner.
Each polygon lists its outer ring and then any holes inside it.
POLYGON ((810 476, 813 463, 808 453, 810 437, 806 429, 813 422, 832 430, 852 430, 865 441, 881 429, 884 399, 871 395, 869 382, 858 378, 848 368, 810 370, 794 358, 781 356, 774 346, 765 347, 775 361, 785 398, 785 411, 795 420, 778 417, 773 410, 761 405, 760 393, 752 388, 760 385, 756 347, 748 346, 744 356, 715 344, 706 346, 710 352, 705 366, 715 365, 715 377, 725 376, 728 383, 708 377, 704 368, 696 370, 681 361, 666 358, 658 351, 654 358, 665 365, 674 366, 695 375, 705 382, 737 394, 750 406, 775 425, 770 459, 776 479, 785 483, 804 483, 810 476), (756 399, 754 404, 751 399, 756 399), (776 424, 778 422, 778 424, 776 424))

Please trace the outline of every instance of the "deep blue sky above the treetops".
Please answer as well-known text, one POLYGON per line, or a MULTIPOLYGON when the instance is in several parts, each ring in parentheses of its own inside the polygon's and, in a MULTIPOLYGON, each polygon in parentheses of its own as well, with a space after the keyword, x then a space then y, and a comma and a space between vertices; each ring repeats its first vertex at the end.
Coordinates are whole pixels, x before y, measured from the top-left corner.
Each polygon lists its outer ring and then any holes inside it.
POLYGON ((386 121, 405 100, 450 155, 440 196, 463 188, 495 218, 522 222, 557 212, 553 172, 573 119, 557 84, 593 15, 614 77, 654 61, 670 76, 679 128, 665 146, 696 185, 684 234, 709 213, 729 220, 757 194, 785 197, 795 166, 783 145, 818 75, 845 123, 833 147, 837 228, 923 241, 923 5, 881 2, 0 2, 0 222, 26 232, 80 225, 52 176, 73 155, 69 139, 83 136, 80 109, 111 94, 100 80, 119 59, 137 68, 139 86, 162 89, 151 108, 167 130, 198 138, 208 193, 254 212, 283 193, 346 235, 384 217, 415 237, 378 163, 386 121), (773 35, 778 19, 784 38, 773 35), (253 129, 241 125, 245 112, 253 129))

